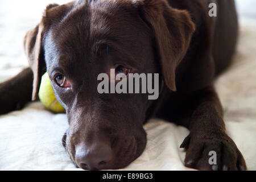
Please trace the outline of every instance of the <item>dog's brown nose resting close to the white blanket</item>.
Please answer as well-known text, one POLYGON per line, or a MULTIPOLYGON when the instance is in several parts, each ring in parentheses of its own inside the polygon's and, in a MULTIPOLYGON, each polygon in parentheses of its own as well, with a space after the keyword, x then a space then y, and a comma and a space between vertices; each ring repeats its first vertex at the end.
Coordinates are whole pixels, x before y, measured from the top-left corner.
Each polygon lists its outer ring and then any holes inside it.
POLYGON ((106 169, 112 160, 112 148, 108 144, 93 144, 90 147, 85 144, 76 146, 75 160, 77 165, 85 170, 106 169))

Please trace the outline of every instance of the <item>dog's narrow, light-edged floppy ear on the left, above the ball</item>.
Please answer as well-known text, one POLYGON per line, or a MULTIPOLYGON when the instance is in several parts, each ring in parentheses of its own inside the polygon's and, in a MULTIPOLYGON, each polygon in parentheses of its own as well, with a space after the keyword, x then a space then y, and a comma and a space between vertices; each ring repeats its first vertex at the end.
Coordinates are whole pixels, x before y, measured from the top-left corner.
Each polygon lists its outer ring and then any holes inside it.
MULTIPOLYGON (((48 5, 46 12, 57 4, 48 5)), ((43 38, 46 34, 46 17, 32 30, 28 31, 24 37, 24 49, 28 59, 28 64, 34 74, 32 100, 36 100, 38 96, 41 77, 46 72, 46 63, 44 61, 43 38)))

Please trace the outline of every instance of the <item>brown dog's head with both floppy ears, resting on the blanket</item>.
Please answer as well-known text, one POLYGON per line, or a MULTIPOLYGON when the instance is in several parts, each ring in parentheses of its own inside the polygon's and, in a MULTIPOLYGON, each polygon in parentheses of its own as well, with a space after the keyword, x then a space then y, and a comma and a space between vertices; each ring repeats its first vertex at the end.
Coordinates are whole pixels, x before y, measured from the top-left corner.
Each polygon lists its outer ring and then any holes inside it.
POLYGON ((175 68, 195 29, 187 11, 160 0, 75 1, 49 5, 24 47, 34 72, 33 99, 48 72, 67 111, 65 148, 84 169, 127 166, 146 146, 147 94, 100 94, 100 73, 160 73, 176 90, 175 68))

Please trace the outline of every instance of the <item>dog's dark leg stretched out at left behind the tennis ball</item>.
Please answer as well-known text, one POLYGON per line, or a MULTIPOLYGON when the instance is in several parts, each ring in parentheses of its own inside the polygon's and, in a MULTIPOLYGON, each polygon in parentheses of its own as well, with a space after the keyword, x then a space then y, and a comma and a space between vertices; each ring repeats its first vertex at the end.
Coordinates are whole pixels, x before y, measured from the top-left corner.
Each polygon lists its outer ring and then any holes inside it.
POLYGON ((0 84, 0 114, 22 109, 32 96, 33 73, 23 69, 15 77, 0 84))

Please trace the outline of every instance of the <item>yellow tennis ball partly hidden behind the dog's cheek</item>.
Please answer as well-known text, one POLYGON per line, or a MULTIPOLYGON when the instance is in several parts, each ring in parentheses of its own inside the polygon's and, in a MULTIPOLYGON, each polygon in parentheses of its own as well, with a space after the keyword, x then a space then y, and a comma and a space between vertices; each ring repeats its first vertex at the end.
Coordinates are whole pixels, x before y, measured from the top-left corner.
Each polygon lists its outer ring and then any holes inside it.
POLYGON ((64 113, 65 109, 61 106, 60 102, 57 101, 55 94, 53 93, 52 84, 49 80, 48 73, 44 73, 38 93, 39 99, 42 104, 54 113, 64 113))

